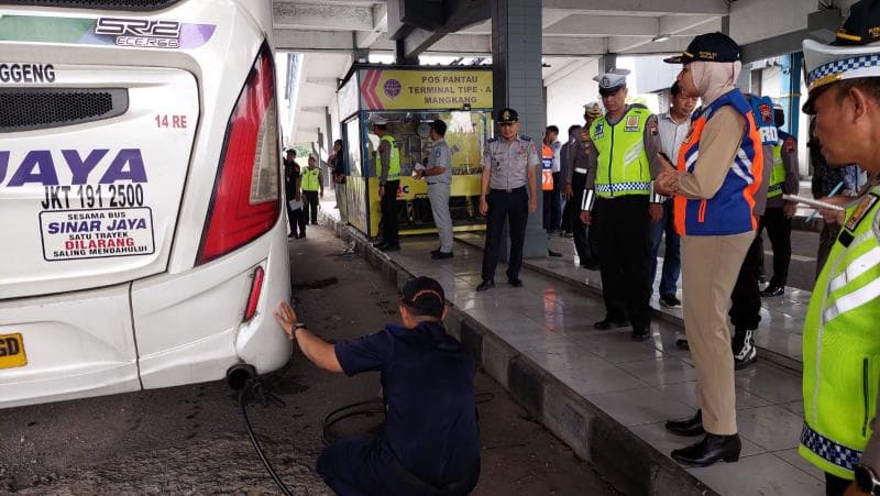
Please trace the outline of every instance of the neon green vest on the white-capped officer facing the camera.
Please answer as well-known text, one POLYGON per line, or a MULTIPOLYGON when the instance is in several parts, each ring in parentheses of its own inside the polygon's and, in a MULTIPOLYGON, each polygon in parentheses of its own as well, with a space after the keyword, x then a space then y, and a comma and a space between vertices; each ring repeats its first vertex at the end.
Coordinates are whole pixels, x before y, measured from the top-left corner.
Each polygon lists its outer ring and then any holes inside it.
POLYGON ((600 197, 651 192, 651 166, 645 153, 645 124, 650 115, 650 110, 634 106, 614 125, 603 115, 590 126, 598 162, 594 189, 600 197))

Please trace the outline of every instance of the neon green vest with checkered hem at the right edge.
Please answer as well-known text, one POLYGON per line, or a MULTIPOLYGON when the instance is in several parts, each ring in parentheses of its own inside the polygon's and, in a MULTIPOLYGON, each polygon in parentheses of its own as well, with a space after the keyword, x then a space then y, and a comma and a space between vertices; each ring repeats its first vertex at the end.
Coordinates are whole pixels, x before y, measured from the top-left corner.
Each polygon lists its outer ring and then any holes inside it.
POLYGON ((880 186, 847 209, 816 280, 803 333, 804 428, 799 451, 853 480, 871 437, 880 379, 880 186))

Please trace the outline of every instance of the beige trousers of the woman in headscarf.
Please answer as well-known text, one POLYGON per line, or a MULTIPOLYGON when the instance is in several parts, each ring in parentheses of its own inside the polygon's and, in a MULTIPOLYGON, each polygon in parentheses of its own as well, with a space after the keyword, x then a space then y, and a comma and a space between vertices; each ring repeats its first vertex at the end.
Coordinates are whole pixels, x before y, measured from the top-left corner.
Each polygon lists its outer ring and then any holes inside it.
POLYGON ((754 239, 755 231, 681 239, 684 331, 696 365, 703 427, 717 436, 737 432, 727 309, 739 267, 754 239))

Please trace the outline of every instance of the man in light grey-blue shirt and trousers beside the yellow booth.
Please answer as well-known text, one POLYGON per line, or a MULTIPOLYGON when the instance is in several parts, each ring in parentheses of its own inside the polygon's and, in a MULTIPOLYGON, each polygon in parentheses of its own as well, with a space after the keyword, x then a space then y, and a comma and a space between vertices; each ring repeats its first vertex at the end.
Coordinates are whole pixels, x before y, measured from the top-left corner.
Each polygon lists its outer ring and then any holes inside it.
POLYGON ((431 251, 431 258, 452 258, 452 217, 449 213, 449 189, 452 185, 452 153, 443 139, 447 123, 438 119, 431 122, 433 141, 428 166, 418 170, 418 177, 428 183, 428 199, 431 201, 433 223, 440 234, 440 249, 431 251))

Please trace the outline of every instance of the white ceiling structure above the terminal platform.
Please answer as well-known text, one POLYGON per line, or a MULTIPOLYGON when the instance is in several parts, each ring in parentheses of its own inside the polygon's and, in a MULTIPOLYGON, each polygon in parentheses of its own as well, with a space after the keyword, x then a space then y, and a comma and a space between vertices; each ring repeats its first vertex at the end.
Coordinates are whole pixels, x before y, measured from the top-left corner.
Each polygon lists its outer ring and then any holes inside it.
MULTIPOLYGON (((298 142, 315 141, 317 129, 326 121, 316 112, 332 104, 333 81, 344 77, 355 59, 366 60, 367 54, 410 60, 420 55, 492 54, 491 0, 271 1, 276 49, 304 54, 293 134, 298 142), (444 21, 438 23, 437 19, 444 21)), ((767 23, 763 18, 772 14, 771 25, 755 33, 760 40, 769 37, 765 32, 780 34, 778 29, 773 31, 773 16, 791 15, 798 22, 803 18, 805 30, 806 13, 817 10, 816 1, 796 0, 792 2, 796 7, 780 11, 780 3, 788 2, 541 0, 543 79, 550 85, 605 54, 680 53, 694 35, 723 31, 723 23, 729 26, 737 10, 754 12, 758 24, 767 23)), ((746 24, 748 27, 748 21, 746 24)))

